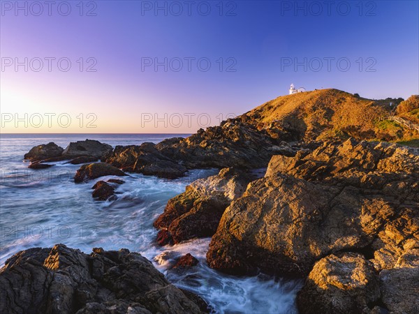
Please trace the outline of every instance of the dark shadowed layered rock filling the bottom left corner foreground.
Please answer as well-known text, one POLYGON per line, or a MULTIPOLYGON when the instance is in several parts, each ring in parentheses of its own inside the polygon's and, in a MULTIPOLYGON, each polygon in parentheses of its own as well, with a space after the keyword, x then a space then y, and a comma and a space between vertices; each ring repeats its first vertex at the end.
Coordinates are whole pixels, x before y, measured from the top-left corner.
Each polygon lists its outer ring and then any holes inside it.
POLYGON ((197 296, 126 249, 94 248, 87 255, 63 244, 31 248, 6 260, 0 283, 4 314, 203 313, 197 296))

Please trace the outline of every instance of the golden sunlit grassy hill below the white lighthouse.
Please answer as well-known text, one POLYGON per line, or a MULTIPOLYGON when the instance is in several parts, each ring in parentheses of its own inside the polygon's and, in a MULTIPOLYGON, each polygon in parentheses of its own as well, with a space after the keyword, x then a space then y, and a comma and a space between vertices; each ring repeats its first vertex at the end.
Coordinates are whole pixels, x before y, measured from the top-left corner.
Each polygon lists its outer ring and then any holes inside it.
POLYGON ((390 101, 371 100, 339 91, 319 89, 280 96, 242 114, 242 121, 288 140, 324 140, 355 137, 359 140, 409 141, 414 130, 393 121, 380 121, 391 111, 390 101))

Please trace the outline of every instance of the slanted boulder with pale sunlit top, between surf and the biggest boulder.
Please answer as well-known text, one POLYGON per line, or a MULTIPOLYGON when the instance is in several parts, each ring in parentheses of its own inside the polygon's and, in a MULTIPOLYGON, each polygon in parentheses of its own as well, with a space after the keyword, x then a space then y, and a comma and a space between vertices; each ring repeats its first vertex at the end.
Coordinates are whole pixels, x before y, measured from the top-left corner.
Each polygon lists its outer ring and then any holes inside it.
POLYGON ((232 200, 240 197, 251 175, 225 168, 212 177, 198 179, 186 191, 169 200, 163 214, 154 222, 161 229, 158 242, 175 244, 197 237, 211 237, 232 200))

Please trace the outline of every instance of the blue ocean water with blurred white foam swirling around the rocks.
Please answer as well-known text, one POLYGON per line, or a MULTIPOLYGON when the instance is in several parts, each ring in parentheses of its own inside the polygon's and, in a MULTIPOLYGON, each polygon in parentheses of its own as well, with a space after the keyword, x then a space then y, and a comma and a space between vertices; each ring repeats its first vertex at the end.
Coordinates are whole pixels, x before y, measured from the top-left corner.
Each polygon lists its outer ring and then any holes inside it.
POLYGON ((296 313, 295 294, 300 281, 258 276, 228 276, 207 267, 210 238, 175 246, 157 246, 154 220, 168 200, 184 192, 192 181, 218 170, 191 170, 185 177, 168 180, 142 174, 122 178, 117 200, 97 202, 88 183, 75 184, 80 165, 66 161, 45 170, 27 168, 23 156, 38 144, 54 142, 65 148, 78 140, 98 140, 116 145, 160 142, 184 134, 1 134, 0 135, 0 264, 27 248, 65 244, 90 253, 128 248, 154 263, 177 287, 199 294, 216 313, 296 313), (190 271, 171 271, 173 262, 186 253, 200 263, 190 271))

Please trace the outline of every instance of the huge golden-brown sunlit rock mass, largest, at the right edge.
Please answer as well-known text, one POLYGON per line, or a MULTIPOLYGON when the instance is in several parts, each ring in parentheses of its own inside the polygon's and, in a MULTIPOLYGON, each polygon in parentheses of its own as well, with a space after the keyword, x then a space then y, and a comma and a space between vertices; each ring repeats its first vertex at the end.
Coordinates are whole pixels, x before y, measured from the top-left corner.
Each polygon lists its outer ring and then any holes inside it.
POLYGON ((224 212, 207 261, 235 274, 291 276, 339 251, 362 251, 377 271, 416 263, 418 167, 407 149, 354 140, 273 158, 224 212))

